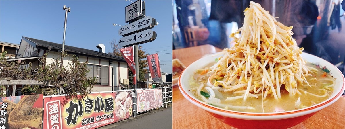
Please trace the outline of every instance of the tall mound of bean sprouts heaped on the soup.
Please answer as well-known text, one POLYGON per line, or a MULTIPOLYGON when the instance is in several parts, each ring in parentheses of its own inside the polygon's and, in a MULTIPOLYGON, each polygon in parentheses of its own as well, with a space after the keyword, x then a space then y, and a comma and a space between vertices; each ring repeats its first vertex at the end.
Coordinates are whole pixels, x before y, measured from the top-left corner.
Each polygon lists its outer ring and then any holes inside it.
POLYGON ((224 92, 244 93, 229 100, 246 100, 257 93, 263 95, 263 99, 268 95, 280 99, 282 86, 289 96, 301 94, 297 84, 309 85, 305 78, 309 70, 300 55, 304 48, 299 48, 291 36, 293 27, 277 22, 253 1, 244 15, 243 27, 236 31, 242 36, 230 35, 235 45, 224 49, 224 56, 219 57, 208 72, 212 75, 209 79, 215 80, 213 87, 226 88, 224 92))

